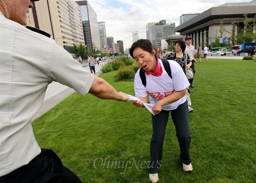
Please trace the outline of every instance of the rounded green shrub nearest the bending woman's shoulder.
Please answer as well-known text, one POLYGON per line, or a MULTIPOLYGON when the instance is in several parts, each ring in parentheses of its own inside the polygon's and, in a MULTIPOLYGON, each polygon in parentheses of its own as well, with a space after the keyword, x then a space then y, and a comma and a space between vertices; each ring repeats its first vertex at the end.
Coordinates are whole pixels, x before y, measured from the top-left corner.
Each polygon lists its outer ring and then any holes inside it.
POLYGON ((134 81, 135 71, 132 67, 120 67, 114 76, 115 82, 134 81))

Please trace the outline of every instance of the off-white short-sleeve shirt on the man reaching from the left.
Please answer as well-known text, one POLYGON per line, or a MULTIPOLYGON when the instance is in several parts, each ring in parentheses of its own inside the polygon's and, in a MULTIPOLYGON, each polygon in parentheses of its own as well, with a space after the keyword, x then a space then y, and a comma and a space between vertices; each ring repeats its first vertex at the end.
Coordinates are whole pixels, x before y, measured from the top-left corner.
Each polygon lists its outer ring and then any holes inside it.
POLYGON ((31 119, 49 83, 86 95, 94 76, 51 38, 0 13, 0 177, 40 154, 31 119))

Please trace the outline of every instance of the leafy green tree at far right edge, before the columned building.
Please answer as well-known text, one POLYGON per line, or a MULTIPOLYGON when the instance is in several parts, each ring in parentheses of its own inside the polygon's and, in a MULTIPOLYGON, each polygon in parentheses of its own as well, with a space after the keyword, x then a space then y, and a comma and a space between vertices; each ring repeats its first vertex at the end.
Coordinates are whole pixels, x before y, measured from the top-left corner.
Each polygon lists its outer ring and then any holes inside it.
POLYGON ((253 32, 253 25, 255 25, 256 16, 254 18, 248 18, 247 14, 244 14, 243 29, 239 34, 237 34, 237 42, 242 43, 251 43, 256 40, 256 33, 253 32))

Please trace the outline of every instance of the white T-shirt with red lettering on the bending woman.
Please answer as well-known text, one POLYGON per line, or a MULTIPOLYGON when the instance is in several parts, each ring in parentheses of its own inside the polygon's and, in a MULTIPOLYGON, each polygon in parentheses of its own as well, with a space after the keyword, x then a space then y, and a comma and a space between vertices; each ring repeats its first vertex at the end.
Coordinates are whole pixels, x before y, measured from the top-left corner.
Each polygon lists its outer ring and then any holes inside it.
MULTIPOLYGON (((146 87, 141 82, 140 70, 135 74, 134 88, 136 97, 145 97, 149 95, 149 101, 151 104, 156 104, 157 101, 162 98, 171 95, 175 91, 181 91, 187 88, 190 84, 184 74, 181 66, 173 60, 168 60, 172 79, 168 76, 168 73, 165 71, 162 61, 158 59, 158 62, 161 64, 163 72, 161 76, 146 75, 146 87)), ((184 103, 187 100, 186 95, 180 98, 174 103, 162 106, 163 110, 174 110, 180 104, 184 103)))

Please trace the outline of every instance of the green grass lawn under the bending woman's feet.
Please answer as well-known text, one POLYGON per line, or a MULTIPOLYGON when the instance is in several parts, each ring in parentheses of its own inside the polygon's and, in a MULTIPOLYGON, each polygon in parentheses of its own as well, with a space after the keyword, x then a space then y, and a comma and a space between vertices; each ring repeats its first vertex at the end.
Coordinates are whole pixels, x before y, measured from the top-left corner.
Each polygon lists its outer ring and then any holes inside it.
MULTIPOLYGON (((170 118, 159 183, 255 183, 256 62, 209 59, 195 70, 189 113, 194 170, 182 170, 170 118)), ((100 77, 134 95, 133 82, 114 82, 115 73, 100 77)), ((150 183, 146 108, 74 93, 34 120, 33 128, 40 147, 54 150, 83 183, 150 183)))

